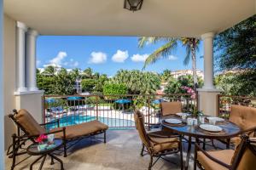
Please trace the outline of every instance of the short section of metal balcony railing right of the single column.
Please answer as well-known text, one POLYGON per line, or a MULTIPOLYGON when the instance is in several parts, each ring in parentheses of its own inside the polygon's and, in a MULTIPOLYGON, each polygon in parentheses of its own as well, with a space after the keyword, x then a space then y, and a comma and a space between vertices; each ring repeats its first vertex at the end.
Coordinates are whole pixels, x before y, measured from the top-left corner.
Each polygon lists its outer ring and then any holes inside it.
POLYGON ((231 105, 245 105, 256 108, 256 98, 243 96, 218 95, 218 116, 228 118, 230 116, 231 105))

